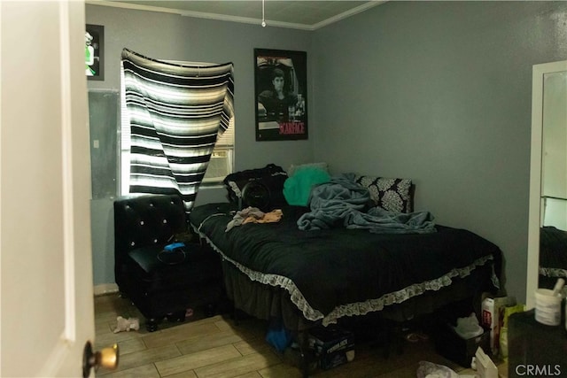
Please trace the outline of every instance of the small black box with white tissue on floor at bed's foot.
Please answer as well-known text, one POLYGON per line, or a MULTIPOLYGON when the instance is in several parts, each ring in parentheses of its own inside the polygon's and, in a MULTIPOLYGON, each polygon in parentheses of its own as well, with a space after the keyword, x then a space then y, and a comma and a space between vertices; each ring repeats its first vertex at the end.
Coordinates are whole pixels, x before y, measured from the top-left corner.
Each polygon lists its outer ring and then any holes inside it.
POLYGON ((447 324, 441 327, 433 337, 435 350, 443 357, 450 359, 463 367, 470 367, 470 362, 475 356, 478 347, 488 349, 490 343, 490 330, 485 328, 482 335, 463 339, 454 328, 447 324))

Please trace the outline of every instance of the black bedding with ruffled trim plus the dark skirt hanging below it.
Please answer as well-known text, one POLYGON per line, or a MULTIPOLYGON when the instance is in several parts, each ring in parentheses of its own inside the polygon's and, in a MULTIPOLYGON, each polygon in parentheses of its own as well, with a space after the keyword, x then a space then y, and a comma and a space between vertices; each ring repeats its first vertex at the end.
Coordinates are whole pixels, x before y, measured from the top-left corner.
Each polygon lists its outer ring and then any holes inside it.
POLYGON ((234 305, 259 319, 283 320, 291 331, 370 312, 411 320, 498 287, 501 251, 464 229, 302 231, 297 220, 308 209, 285 206, 278 222, 227 232, 235 210, 228 203, 200 205, 190 223, 221 254, 234 305))

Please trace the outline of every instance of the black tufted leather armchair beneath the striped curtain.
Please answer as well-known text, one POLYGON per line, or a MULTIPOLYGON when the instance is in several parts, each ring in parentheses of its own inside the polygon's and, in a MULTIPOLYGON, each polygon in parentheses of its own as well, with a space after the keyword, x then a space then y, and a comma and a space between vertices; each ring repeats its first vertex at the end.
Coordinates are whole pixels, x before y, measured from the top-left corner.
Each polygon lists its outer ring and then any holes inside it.
POLYGON ((188 308, 214 305, 222 294, 221 259, 209 247, 185 243, 164 251, 187 232, 181 197, 144 195, 114 202, 114 277, 155 331, 159 321, 184 320, 188 308))

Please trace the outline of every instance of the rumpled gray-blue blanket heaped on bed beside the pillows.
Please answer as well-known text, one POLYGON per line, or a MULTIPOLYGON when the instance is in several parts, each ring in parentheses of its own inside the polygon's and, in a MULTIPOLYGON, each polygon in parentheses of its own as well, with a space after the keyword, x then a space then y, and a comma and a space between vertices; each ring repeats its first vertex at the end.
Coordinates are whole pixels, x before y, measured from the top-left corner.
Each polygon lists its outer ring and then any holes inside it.
POLYGON ((309 207, 311 212, 298 220, 301 230, 333 227, 364 228, 373 233, 426 234, 435 232, 435 223, 430 212, 388 212, 371 207, 368 189, 354 181, 354 174, 340 174, 329 182, 311 190, 309 207))

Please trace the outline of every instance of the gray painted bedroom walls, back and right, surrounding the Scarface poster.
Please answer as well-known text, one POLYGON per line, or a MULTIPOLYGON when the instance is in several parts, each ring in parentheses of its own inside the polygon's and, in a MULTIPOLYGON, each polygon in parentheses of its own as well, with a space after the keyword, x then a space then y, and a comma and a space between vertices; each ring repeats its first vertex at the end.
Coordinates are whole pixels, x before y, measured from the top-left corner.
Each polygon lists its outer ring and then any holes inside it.
MULTIPOLYGON (((496 243, 509 294, 524 300, 532 65, 567 58, 567 3, 388 2, 315 32, 86 9, 106 39, 106 79, 89 88, 119 88, 123 47, 232 61, 237 169, 326 161, 333 172, 412 178, 416 210, 496 243), (308 141, 255 142, 253 48, 307 51, 308 141)), ((107 210, 93 209, 93 245, 106 249, 107 210)), ((113 282, 112 253, 93 251, 107 267, 95 264, 95 284, 113 282)))

